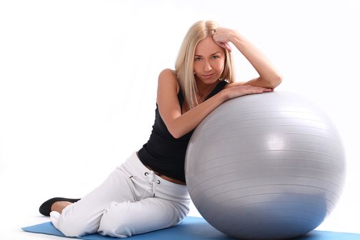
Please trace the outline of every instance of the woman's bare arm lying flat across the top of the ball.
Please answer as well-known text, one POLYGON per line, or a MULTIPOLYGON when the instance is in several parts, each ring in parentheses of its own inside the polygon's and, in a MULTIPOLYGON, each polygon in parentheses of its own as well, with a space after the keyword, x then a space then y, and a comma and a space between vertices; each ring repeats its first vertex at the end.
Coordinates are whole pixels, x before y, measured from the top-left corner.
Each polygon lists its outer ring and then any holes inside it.
POLYGON ((224 103, 224 101, 242 95, 263 93, 265 91, 272 91, 272 89, 249 85, 227 88, 182 114, 178 100, 176 75, 171 69, 165 69, 158 77, 156 102, 160 116, 165 122, 167 129, 174 138, 178 139, 195 129, 210 112, 224 103))

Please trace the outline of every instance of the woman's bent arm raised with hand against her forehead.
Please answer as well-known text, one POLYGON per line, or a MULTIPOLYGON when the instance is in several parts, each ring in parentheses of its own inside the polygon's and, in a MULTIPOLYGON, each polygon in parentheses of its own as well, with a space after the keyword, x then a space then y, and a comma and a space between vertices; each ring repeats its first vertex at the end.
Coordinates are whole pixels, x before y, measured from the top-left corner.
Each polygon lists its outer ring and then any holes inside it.
POLYGON ((249 40, 233 29, 220 27, 213 36, 215 43, 221 47, 228 48, 227 43, 231 42, 246 59, 252 64, 259 73, 259 77, 254 78, 243 85, 261 86, 264 88, 276 88, 282 81, 280 72, 274 67, 272 62, 249 40))

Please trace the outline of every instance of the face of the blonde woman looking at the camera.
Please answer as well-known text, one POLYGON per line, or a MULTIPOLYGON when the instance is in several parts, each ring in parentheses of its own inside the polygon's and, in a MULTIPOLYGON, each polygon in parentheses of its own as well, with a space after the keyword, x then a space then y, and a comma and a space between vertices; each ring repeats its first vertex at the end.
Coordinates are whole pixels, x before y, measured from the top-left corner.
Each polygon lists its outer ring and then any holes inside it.
POLYGON ((225 52, 213 38, 207 37, 197 43, 194 56, 195 78, 204 84, 216 82, 224 71, 225 52))

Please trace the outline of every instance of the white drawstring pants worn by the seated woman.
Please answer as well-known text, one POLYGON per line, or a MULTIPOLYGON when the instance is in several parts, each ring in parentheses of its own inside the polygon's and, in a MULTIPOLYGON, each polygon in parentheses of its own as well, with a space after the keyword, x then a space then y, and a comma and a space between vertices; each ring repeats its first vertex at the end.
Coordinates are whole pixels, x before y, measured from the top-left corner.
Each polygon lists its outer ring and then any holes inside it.
POLYGON ((190 201, 186 186, 160 178, 134 153, 97 189, 50 216, 67 237, 129 237, 180 224, 190 201))

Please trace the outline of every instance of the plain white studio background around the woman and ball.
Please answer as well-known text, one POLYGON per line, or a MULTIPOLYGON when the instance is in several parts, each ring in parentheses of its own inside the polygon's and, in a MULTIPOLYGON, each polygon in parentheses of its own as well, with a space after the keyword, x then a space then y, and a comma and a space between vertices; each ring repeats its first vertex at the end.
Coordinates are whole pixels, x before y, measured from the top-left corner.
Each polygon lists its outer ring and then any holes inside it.
MULTIPOLYGON (((322 106, 346 147, 337 208, 319 229, 359 232, 359 1, 0 1, 0 203, 7 239, 48 239, 49 197, 82 197, 145 143, 158 73, 195 21, 235 28, 280 69, 276 91, 322 106)), ((256 77, 235 53, 237 80, 256 77)), ((198 215, 195 208, 191 215, 198 215)))

